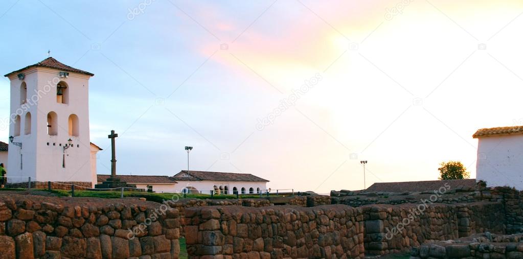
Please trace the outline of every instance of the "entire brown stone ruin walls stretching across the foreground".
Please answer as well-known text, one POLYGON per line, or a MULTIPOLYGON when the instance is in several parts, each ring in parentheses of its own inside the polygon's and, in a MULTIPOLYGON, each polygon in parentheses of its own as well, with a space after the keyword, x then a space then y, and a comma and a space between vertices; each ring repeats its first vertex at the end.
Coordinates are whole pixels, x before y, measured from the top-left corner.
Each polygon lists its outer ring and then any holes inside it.
POLYGON ((178 258, 184 237, 189 258, 521 258, 523 192, 433 195, 292 196, 281 206, 265 198, 2 196, 0 257, 178 258))

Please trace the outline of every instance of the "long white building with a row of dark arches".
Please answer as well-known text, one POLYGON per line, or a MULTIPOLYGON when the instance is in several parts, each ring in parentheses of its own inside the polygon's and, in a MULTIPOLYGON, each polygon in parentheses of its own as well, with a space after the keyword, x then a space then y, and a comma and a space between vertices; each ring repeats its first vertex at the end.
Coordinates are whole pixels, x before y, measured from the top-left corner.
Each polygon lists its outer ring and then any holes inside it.
POLYGON ((210 194, 219 190, 223 194, 255 194, 267 190, 267 182, 263 178, 250 173, 222 173, 206 171, 182 170, 173 176, 178 182, 176 189, 190 193, 210 194))

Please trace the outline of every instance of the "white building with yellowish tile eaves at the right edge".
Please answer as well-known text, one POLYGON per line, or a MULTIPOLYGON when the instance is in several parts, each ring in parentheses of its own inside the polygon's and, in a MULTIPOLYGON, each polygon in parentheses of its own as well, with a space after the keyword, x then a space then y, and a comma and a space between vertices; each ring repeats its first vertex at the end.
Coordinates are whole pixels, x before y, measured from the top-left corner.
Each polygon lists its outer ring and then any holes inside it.
POLYGON ((476 179, 488 187, 523 190, 523 126, 482 128, 478 139, 476 179))

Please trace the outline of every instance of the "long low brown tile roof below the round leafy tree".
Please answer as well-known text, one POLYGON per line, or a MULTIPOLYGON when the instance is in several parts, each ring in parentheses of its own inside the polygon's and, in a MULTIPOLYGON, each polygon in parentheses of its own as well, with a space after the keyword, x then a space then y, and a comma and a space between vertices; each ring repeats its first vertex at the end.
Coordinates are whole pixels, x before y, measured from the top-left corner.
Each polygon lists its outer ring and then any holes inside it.
POLYGON ((438 190, 441 186, 445 186, 445 184, 450 185, 450 189, 456 189, 459 186, 476 187, 476 179, 374 183, 367 188, 367 191, 395 193, 423 192, 438 190))

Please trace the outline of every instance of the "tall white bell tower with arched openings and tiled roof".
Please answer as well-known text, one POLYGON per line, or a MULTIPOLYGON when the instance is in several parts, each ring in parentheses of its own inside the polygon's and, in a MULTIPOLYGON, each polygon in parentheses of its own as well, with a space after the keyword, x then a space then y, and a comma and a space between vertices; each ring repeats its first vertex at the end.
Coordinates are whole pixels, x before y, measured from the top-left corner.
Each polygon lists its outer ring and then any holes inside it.
MULTIPOLYGON (((96 183, 89 138, 92 73, 49 57, 11 72, 9 183, 96 183), (70 141, 69 141, 70 140, 70 141)), ((95 151, 96 153, 96 151, 95 151)), ((95 168, 96 170, 96 168, 95 168)))

